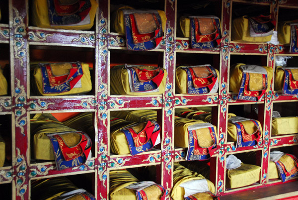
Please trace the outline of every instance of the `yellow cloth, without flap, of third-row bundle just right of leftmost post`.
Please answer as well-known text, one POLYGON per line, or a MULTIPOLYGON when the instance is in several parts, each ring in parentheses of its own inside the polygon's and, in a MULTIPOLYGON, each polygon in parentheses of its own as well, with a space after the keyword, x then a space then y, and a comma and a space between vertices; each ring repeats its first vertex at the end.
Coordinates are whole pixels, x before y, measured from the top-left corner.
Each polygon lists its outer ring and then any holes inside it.
POLYGON ((35 114, 30 120, 30 125, 31 134, 34 134, 34 158, 40 160, 55 160, 52 143, 46 133, 75 131, 63 125, 50 113, 35 114))

